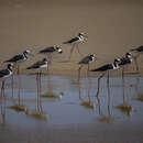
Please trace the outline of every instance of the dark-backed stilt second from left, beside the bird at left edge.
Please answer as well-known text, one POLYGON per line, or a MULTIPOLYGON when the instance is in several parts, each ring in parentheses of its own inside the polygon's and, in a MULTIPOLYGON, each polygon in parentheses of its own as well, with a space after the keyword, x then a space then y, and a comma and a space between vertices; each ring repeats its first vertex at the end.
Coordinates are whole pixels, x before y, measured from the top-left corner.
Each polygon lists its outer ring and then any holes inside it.
MULTIPOLYGON (((18 68, 16 74, 19 76, 19 94, 18 94, 19 105, 20 105, 20 89, 21 89, 20 65, 19 65, 19 63, 25 62, 29 58, 30 55, 33 56, 30 51, 24 51, 23 54, 15 55, 12 58, 4 62, 4 63, 13 63, 18 66, 16 67, 18 68)), ((13 87, 13 76, 12 76, 12 87, 13 87)), ((12 95, 13 95, 13 91, 12 91, 12 95)))

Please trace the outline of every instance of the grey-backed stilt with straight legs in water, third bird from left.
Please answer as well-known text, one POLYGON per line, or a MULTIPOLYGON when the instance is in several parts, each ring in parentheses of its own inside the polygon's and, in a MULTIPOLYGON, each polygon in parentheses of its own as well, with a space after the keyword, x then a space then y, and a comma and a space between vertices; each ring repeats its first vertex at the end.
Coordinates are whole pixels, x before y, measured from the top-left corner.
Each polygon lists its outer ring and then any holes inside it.
POLYGON ((38 70, 36 75, 36 82, 37 82, 37 110, 42 111, 42 105, 41 105, 41 90, 42 90, 42 85, 41 85, 41 72, 43 68, 46 68, 48 65, 48 62, 46 58, 43 61, 36 62, 32 66, 28 67, 26 69, 35 69, 38 70))

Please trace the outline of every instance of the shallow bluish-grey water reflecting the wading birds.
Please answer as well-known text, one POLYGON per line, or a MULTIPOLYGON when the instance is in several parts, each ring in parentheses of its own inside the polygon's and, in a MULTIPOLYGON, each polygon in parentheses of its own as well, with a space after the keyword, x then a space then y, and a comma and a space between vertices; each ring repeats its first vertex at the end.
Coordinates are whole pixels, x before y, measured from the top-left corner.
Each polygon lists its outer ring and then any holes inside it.
MULTIPOLYGON (((21 103, 35 111, 35 75, 21 75, 21 103)), ((107 78, 102 78, 100 84, 97 98, 97 77, 81 77, 80 84, 77 84, 76 77, 42 76, 42 94, 64 92, 64 96, 62 99, 42 98, 42 108, 48 118, 37 120, 25 112, 9 109, 18 103, 18 77, 14 77, 13 99, 9 79, 6 84, 8 100, 4 122, 0 117, 0 143, 143 142, 143 102, 136 100, 143 94, 143 78, 125 77, 123 91, 122 78, 111 77, 110 94, 107 78), (91 108, 81 106, 89 99, 94 103, 91 108), (130 113, 116 108, 123 102, 131 106, 130 113)))

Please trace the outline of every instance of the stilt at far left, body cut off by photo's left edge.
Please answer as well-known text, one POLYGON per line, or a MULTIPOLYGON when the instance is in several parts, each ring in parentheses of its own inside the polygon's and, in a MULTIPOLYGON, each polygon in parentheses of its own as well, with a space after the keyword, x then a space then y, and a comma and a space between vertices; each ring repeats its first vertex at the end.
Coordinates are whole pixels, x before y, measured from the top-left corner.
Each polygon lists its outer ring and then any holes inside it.
POLYGON ((3 108, 1 109, 2 117, 4 117, 6 113, 6 101, 7 101, 7 97, 4 95, 4 82, 6 79, 10 77, 12 74, 13 74, 13 64, 8 64, 7 69, 0 70, 0 80, 2 81, 1 95, 0 95, 1 108, 2 108, 2 98, 4 98, 4 109, 3 108))

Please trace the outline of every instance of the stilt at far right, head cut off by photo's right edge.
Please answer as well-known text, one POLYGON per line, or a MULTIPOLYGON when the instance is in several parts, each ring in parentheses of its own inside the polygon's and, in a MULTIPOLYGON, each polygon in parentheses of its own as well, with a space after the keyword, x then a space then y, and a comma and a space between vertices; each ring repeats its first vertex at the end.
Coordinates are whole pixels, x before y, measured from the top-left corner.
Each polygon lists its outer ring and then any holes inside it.
POLYGON ((138 57, 140 56, 140 54, 143 54, 143 45, 141 45, 141 46, 139 46, 136 48, 132 48, 131 52, 136 53, 136 55, 133 58, 134 58, 134 62, 135 62, 136 72, 139 73, 138 57))

